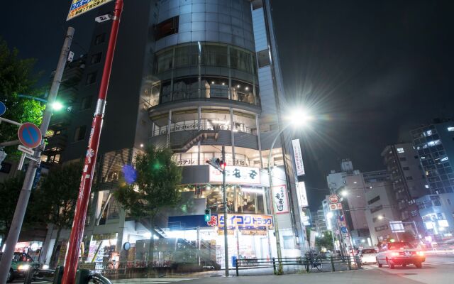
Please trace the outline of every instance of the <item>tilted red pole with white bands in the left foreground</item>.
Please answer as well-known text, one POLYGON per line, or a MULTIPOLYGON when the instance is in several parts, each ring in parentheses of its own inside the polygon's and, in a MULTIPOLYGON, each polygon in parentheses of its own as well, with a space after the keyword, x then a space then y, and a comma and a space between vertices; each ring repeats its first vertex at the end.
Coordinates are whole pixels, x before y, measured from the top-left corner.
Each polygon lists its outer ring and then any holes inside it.
POLYGON ((92 189, 94 165, 96 164, 99 137, 101 136, 104 109, 106 108, 107 89, 109 87, 109 78, 111 77, 112 61, 114 60, 116 38, 122 11, 123 0, 116 0, 109 46, 107 47, 106 53, 106 62, 104 62, 104 72, 101 79, 101 87, 99 87, 98 102, 96 103, 96 111, 94 111, 82 180, 80 181, 79 196, 77 197, 76 211, 74 212, 74 222, 72 224, 70 245, 65 259, 62 284, 74 284, 76 278, 79 249, 82 242, 82 236, 84 235, 85 218, 87 217, 87 207, 90 191, 92 189))

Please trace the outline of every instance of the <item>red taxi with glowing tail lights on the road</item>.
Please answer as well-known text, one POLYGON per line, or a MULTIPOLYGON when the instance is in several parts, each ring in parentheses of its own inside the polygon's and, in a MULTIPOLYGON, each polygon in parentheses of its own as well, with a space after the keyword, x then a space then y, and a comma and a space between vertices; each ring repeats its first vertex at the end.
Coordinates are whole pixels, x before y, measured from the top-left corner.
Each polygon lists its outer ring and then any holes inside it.
POLYGON ((386 264, 389 268, 394 269, 394 266, 407 266, 414 264, 416 268, 422 268, 423 262, 426 261, 423 251, 415 249, 407 241, 399 241, 382 245, 377 253, 376 261, 378 267, 386 264))

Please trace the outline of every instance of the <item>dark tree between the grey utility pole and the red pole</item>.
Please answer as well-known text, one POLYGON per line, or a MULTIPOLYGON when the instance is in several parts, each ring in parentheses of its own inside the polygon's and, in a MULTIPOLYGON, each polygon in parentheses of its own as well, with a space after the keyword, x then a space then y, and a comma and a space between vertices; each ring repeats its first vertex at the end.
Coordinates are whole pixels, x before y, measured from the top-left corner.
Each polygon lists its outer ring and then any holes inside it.
POLYGON ((52 264, 55 262, 57 243, 62 229, 70 229, 72 226, 81 176, 82 163, 80 162, 56 165, 50 169, 49 175, 43 178, 40 188, 36 191, 33 212, 43 217, 41 222, 53 224, 57 229, 55 245, 50 257, 52 264))

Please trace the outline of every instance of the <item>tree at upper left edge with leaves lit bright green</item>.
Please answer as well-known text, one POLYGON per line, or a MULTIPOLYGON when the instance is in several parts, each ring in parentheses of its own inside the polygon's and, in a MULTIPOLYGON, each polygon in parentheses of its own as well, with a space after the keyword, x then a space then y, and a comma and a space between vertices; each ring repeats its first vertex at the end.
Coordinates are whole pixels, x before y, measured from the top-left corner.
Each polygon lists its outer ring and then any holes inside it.
MULTIPOLYGON (((6 105, 6 119, 18 122, 41 123, 44 106, 33 99, 23 99, 18 94, 38 94, 35 84, 39 75, 33 73, 36 60, 33 58, 21 59, 18 50, 12 50, 6 41, 0 38, 0 101, 6 105)), ((17 126, 1 124, 0 143, 17 139, 17 126)), ((6 148, 6 152, 15 151, 13 147, 6 148)))

